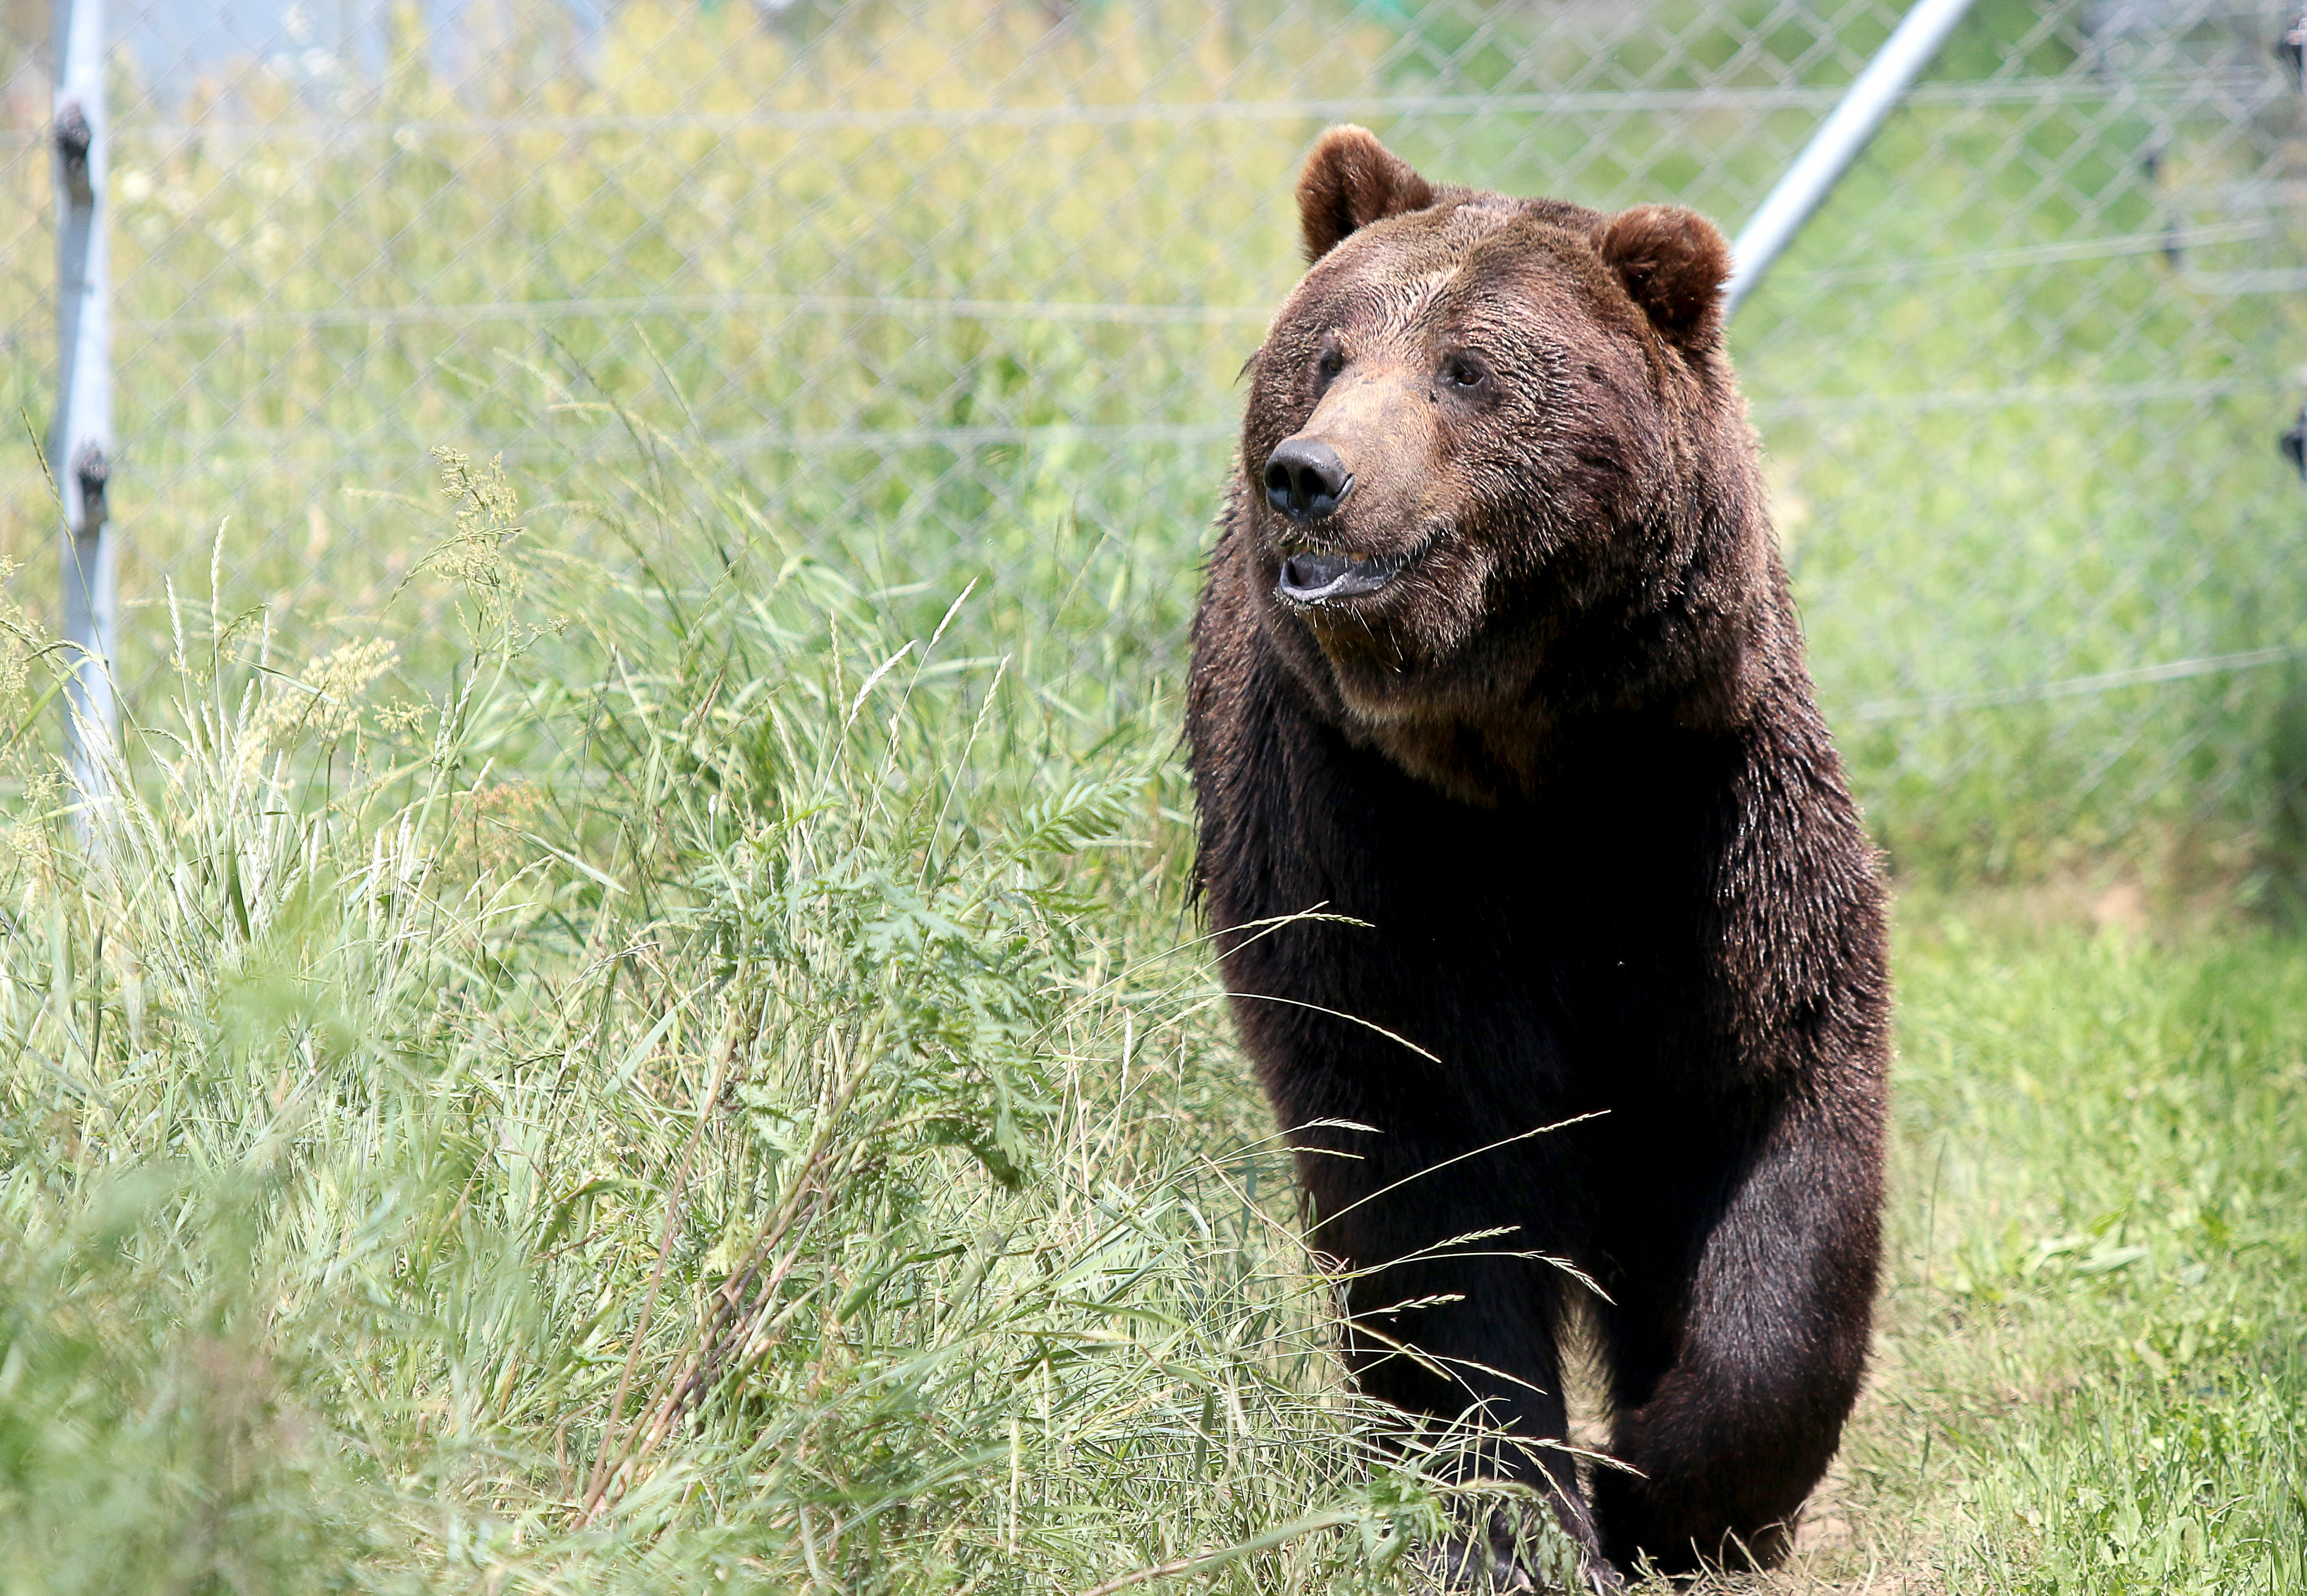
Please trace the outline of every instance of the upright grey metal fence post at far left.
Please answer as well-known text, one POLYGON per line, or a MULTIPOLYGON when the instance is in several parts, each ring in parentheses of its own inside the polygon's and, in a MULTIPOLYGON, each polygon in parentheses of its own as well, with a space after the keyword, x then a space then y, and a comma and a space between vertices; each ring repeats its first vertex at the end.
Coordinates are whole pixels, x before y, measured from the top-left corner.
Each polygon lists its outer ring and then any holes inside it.
MULTIPOLYGON (((83 805, 106 791, 113 697, 113 307, 106 226, 104 0, 55 0, 55 353, 48 468, 65 503, 65 750, 83 805)), ((83 807, 85 833, 85 807, 83 807)))

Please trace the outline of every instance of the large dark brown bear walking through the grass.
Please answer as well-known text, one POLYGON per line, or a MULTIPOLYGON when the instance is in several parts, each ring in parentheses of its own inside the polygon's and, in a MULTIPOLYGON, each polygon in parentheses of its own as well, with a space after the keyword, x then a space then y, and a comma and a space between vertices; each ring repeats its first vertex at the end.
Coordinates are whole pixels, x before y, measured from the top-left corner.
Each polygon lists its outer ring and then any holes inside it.
POLYGON ((1553 1499, 1594 1589, 1769 1564, 1866 1358, 1889 976, 1728 249, 1689 210, 1430 185, 1359 127, 1299 217, 1186 736, 1347 1363, 1504 1432, 1481 1469, 1553 1499), (1626 1465, 1590 1495, 1566 1335, 1626 1465))

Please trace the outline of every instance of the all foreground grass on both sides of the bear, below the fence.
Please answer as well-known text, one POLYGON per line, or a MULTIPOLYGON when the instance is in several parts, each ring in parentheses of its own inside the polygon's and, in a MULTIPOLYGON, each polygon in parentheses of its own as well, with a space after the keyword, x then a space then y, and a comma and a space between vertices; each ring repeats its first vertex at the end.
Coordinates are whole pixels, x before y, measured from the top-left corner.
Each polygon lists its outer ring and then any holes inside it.
MULTIPOLYGON (((9 750, 0 1589, 1398 1589, 1451 1504, 1338 1379, 1174 710, 708 484, 445 477, 341 653, 182 595, 95 853, 9 750)), ((1786 1589, 2307 1591, 2307 957, 2058 902, 1906 904, 1786 1589)))

